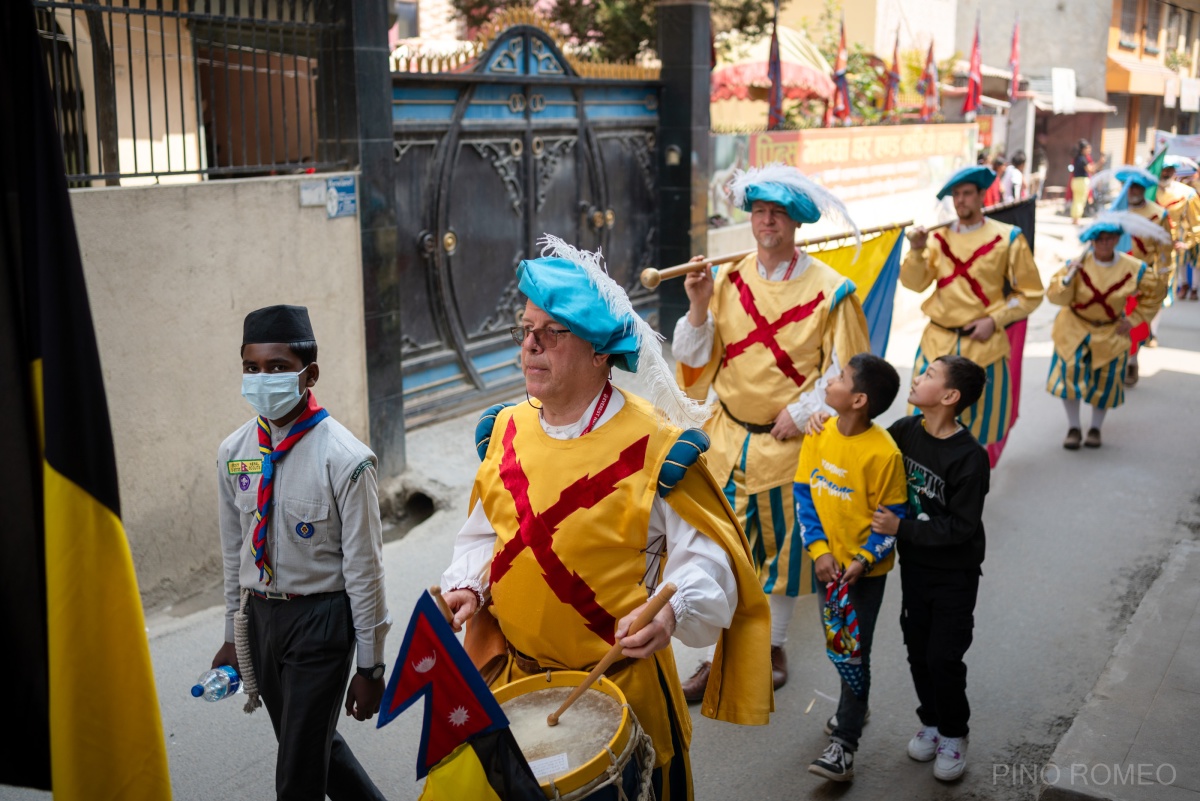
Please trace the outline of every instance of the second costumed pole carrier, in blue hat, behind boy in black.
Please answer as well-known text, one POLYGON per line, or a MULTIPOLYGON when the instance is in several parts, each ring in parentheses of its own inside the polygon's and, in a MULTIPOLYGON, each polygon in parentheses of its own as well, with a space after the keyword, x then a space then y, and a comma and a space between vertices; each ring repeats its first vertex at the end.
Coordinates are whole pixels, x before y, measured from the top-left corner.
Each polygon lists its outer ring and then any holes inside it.
POLYGON ((913 375, 940 356, 966 356, 988 372, 984 397, 962 412, 962 424, 982 445, 1008 435, 1013 385, 1004 326, 1024 320, 1042 302, 1042 277, 1021 229, 983 216, 983 191, 996 180, 986 167, 966 167, 946 182, 958 219, 932 235, 917 225, 900 265, 900 283, 913 291, 935 284, 922 305, 929 325, 920 338, 913 375))

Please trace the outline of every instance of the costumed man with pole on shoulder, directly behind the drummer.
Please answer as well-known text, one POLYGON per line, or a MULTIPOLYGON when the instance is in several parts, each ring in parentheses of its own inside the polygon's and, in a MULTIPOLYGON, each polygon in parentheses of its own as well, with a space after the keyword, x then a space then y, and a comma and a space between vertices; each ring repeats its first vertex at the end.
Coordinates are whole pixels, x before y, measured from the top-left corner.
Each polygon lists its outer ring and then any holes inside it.
MULTIPOLYGON (((862 240, 846 206, 793 167, 739 171, 730 188, 750 212, 757 251, 715 277, 709 270, 688 276, 690 307, 676 325, 672 349, 688 396, 704 399, 712 389, 719 401, 704 426, 713 440, 708 466, 745 529, 770 597, 778 689, 787 681, 784 644, 796 598, 814 588, 791 500, 802 429, 827 409, 828 379, 871 349, 854 284, 798 249, 796 229, 830 215, 862 240)), ((709 669, 710 662, 702 662, 684 683, 689 700, 703 695, 709 669)))

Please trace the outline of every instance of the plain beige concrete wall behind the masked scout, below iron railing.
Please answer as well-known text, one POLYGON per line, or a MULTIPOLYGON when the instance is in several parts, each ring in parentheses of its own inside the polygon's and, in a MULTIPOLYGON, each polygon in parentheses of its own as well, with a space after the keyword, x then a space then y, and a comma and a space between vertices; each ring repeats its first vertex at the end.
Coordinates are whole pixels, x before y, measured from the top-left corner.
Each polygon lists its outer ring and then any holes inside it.
POLYGON ((247 312, 310 308, 317 397, 366 440, 359 222, 300 207, 300 180, 71 194, 122 517, 148 604, 220 576, 216 450, 254 414, 241 399, 238 355, 247 312))

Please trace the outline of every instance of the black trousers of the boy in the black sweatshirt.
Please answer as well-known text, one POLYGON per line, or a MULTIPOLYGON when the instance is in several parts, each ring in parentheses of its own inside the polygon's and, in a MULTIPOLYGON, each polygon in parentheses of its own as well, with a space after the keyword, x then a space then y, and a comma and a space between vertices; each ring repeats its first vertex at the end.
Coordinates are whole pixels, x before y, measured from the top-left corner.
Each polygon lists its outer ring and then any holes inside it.
POLYGON ((900 628, 917 688, 917 717, 936 725, 943 737, 965 737, 967 666, 962 662, 974 637, 974 604, 979 571, 943 571, 905 565, 900 628))

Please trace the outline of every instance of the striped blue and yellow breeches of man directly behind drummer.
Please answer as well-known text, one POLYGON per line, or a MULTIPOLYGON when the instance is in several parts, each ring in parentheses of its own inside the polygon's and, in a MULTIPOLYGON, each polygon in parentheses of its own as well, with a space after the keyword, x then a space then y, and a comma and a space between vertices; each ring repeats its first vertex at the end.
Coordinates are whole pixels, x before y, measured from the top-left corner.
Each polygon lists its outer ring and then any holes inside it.
POLYGON ((750 541, 750 556, 758 570, 758 580, 767 595, 809 595, 814 592, 812 560, 804 550, 800 526, 796 519, 792 484, 749 494, 745 484, 746 448, 730 471, 725 498, 750 541))

